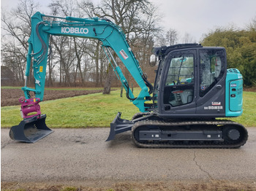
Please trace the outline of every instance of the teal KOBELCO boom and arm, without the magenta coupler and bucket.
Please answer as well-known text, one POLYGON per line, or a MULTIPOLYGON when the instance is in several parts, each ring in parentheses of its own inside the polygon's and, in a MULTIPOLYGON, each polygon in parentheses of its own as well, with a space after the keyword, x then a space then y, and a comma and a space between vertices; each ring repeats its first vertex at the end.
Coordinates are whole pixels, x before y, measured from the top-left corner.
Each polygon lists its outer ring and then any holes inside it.
POLYGON ((31 36, 29 38, 29 53, 27 55, 26 82, 22 90, 26 99, 29 99, 29 92, 34 92, 35 97, 43 100, 45 90, 45 74, 48 61, 49 36, 73 36, 88 39, 98 39, 102 42, 102 47, 116 72, 118 79, 127 91, 127 98, 138 106, 140 112, 146 112, 148 107, 144 102, 150 100, 152 91, 151 84, 146 80, 146 76, 140 69, 138 61, 135 59, 126 37, 119 26, 107 19, 78 18, 78 17, 56 17, 61 21, 50 21, 45 18, 55 17, 42 15, 37 12, 31 18, 31 36), (141 88, 137 98, 129 89, 127 79, 124 77, 120 67, 117 65, 110 48, 116 52, 118 58, 132 74, 135 81, 141 88), (34 71, 35 89, 27 87, 27 79, 31 68, 34 71), (148 90, 149 89, 149 90, 148 90))

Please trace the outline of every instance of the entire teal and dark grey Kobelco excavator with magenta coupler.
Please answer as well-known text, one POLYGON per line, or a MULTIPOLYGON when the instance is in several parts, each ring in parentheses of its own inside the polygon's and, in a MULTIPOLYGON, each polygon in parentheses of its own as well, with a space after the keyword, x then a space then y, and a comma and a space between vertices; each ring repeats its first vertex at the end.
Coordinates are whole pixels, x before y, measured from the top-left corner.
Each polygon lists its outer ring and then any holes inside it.
POLYGON ((109 62, 126 90, 127 98, 140 112, 132 120, 118 112, 110 123, 107 141, 131 130, 132 141, 143 148, 238 148, 248 139, 246 128, 223 120, 243 112, 243 77, 238 69, 227 69, 224 47, 176 44, 154 47, 150 65, 158 65, 154 87, 148 82, 126 36, 106 18, 31 17, 31 36, 26 62, 25 97, 19 99, 23 120, 12 126, 10 138, 33 143, 53 131, 45 124, 39 102, 43 100, 45 74, 50 55, 49 36, 98 39, 109 62), (49 51, 48 51, 49 50, 49 51), (137 97, 129 88, 112 52, 138 83, 137 97), (33 69, 34 88, 27 87, 33 69), (34 93, 31 97, 30 93, 34 93), (222 119, 222 120, 220 120, 222 119))

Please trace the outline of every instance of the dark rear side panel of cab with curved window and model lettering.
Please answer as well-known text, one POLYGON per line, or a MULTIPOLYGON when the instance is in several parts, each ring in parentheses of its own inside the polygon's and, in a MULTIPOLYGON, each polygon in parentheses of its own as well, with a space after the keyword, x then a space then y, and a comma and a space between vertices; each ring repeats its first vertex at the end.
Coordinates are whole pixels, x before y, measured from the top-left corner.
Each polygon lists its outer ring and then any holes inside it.
POLYGON ((199 87, 196 113, 208 114, 213 117, 225 114, 225 76, 227 72, 225 48, 202 48, 198 50, 198 55, 199 87))

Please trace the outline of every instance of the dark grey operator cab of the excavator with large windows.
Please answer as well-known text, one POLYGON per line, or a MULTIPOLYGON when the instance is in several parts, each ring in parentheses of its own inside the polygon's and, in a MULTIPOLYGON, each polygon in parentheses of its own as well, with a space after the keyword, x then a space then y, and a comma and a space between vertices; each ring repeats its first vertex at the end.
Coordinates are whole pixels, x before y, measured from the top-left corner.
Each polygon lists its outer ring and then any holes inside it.
POLYGON ((177 44, 154 48, 159 59, 154 112, 160 117, 225 117, 223 47, 177 44))

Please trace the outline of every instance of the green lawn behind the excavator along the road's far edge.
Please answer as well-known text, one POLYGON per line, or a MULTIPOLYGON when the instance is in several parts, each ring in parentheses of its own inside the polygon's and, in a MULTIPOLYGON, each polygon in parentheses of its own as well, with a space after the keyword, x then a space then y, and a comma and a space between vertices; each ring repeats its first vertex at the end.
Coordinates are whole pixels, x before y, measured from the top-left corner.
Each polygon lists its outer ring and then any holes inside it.
MULTIPOLYGON (((139 90, 135 88, 135 95, 139 90)), ((244 113, 241 117, 230 118, 246 127, 256 126, 256 93, 244 92, 244 113)), ((87 128, 109 127, 117 112, 122 112, 123 119, 130 120, 139 112, 120 91, 112 91, 110 95, 95 93, 73 98, 62 98, 40 103, 41 111, 47 114, 46 123, 49 128, 87 128)), ((20 106, 1 107, 1 127, 18 125, 21 121, 20 106)))

